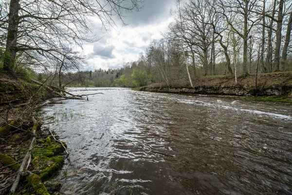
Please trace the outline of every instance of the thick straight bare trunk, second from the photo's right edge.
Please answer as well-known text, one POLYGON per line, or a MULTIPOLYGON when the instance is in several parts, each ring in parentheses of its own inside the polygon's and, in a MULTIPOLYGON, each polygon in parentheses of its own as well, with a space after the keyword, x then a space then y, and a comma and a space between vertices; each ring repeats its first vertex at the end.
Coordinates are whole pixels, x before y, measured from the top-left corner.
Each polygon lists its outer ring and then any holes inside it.
POLYGON ((283 23, 283 4, 284 4, 283 0, 280 0, 279 10, 278 10, 278 20, 277 20, 274 71, 278 71, 280 69, 280 50, 281 50, 281 36, 282 36, 282 23, 283 23))

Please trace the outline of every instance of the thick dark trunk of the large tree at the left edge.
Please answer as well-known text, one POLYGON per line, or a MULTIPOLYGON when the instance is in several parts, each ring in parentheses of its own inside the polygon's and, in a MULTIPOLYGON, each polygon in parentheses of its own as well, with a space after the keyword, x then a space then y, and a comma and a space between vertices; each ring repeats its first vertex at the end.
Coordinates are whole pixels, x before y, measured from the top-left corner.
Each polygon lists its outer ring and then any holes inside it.
POLYGON ((19 0, 10 0, 8 14, 8 31, 5 55, 3 59, 3 70, 12 75, 15 67, 15 59, 17 50, 18 23, 19 23, 19 0))

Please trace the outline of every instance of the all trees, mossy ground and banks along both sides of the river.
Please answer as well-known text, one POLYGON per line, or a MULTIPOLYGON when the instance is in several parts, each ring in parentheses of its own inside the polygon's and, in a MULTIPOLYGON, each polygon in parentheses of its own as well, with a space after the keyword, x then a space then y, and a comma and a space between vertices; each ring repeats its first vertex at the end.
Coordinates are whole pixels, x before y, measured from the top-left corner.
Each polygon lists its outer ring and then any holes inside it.
POLYGON ((144 0, 60 2, 0 2, 0 194, 51 193, 43 182, 68 151, 51 130, 41 129, 38 111, 49 98, 93 95, 73 95, 65 87, 291 102, 292 1, 177 0, 163 39, 149 41, 139 59, 122 68, 94 71, 84 70, 82 52, 84 42, 100 38, 89 27, 92 18, 108 31, 117 23, 112 16, 126 24, 126 12, 139 11, 144 0))

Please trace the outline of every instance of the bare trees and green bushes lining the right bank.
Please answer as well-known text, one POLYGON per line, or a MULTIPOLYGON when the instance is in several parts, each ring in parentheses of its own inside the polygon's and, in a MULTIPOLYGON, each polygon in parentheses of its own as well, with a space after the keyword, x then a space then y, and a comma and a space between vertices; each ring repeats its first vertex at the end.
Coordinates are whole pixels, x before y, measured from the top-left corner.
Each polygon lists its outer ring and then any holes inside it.
POLYGON ((163 39, 124 64, 114 86, 291 71, 291 0, 177 0, 163 39))

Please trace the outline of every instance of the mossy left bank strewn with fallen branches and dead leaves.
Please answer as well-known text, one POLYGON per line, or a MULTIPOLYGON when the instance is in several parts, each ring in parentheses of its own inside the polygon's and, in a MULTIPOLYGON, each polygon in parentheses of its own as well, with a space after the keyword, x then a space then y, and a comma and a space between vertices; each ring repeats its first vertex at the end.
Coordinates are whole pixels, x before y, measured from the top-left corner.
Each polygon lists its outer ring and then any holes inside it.
POLYGON ((18 179, 14 193, 55 193, 60 184, 46 181, 59 173, 66 143, 43 127, 48 118, 39 111, 56 94, 30 81, 1 77, 0 97, 0 194, 9 194, 18 179))

